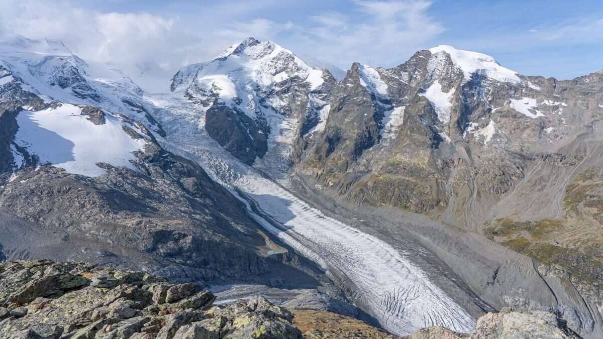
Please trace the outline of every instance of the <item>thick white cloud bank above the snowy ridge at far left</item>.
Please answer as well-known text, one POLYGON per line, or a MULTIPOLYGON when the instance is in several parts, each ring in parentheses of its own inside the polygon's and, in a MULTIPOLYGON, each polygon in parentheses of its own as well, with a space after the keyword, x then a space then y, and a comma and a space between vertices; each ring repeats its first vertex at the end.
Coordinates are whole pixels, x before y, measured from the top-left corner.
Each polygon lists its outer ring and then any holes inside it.
POLYGON ((5 36, 62 40, 84 60, 120 66, 173 63, 174 55, 166 46, 191 39, 174 31, 174 20, 148 13, 101 13, 68 2, 7 0, 0 4, 5 36))

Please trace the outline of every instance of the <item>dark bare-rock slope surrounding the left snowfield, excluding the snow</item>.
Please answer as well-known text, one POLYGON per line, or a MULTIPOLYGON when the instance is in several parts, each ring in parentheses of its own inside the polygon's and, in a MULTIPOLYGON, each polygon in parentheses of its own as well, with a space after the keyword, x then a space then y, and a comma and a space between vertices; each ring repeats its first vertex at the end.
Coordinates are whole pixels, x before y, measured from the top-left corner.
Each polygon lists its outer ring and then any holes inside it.
MULTIPOLYGON (((267 257, 265 247, 271 242, 242 203, 196 163, 163 150, 144 124, 120 113, 112 115, 131 126, 126 133, 146 143, 134 156, 136 170, 98 163, 107 174, 84 177, 40 164, 26 150, 19 150, 24 163, 17 166, 12 151, 16 116, 24 106, 40 110, 52 105, 61 103, 45 104, 18 82, 0 90, 0 128, 5 132, 0 136, 0 247, 6 259, 85 258, 145 268, 177 281, 267 283, 281 275, 277 271, 291 268, 288 277, 274 281, 315 287, 315 277, 323 276, 314 268, 311 274, 292 268, 300 261, 291 261, 289 254, 267 257), (19 180, 10 180, 13 170, 19 180)), ((95 125, 104 125, 106 110, 82 107, 95 125)), ((301 264, 308 265, 314 264, 301 264)), ((113 284, 97 278, 93 284, 99 287, 113 284)), ((324 276, 319 279, 329 284, 324 276)))

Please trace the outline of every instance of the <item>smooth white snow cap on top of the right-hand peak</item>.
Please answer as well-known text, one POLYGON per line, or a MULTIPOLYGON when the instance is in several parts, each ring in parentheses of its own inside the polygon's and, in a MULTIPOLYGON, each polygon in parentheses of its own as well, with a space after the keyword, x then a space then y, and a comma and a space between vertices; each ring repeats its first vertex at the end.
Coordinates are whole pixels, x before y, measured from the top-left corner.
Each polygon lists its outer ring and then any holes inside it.
POLYGON ((430 48, 429 51, 432 54, 445 52, 450 55, 452 62, 464 72, 467 80, 471 78, 473 73, 479 73, 498 81, 508 83, 521 82, 520 78, 517 77, 517 72, 500 66, 490 55, 463 51, 462 49, 456 49, 449 45, 436 46, 430 48))

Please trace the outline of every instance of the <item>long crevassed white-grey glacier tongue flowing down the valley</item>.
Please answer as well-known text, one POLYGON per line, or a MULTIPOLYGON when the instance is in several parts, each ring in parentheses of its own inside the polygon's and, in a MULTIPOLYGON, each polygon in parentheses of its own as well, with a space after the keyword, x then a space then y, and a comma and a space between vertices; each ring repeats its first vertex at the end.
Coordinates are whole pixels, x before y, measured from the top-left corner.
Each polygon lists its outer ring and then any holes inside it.
POLYGON ((200 163, 213 179, 247 204, 265 229, 320 264, 356 305, 393 334, 444 326, 475 331, 475 319, 408 256, 384 241, 327 217, 291 192, 244 165, 205 132, 201 117, 177 107, 163 116, 163 147, 200 163))

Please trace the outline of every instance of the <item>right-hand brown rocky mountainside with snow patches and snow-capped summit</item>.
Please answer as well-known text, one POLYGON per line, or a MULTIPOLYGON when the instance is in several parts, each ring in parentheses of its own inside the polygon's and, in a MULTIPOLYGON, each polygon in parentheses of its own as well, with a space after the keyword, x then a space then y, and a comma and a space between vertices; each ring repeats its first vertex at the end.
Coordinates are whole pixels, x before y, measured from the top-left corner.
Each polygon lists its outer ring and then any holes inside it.
MULTIPOLYGON (((563 277, 596 305, 601 86, 596 73, 525 77, 450 46, 391 69, 353 65, 334 87, 323 133, 293 170, 355 211, 396 208, 486 235, 537 259, 543 276, 563 277)), ((582 335, 601 331, 599 312, 557 308, 582 335)))

